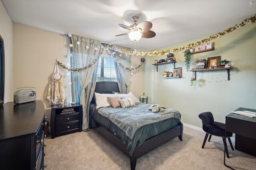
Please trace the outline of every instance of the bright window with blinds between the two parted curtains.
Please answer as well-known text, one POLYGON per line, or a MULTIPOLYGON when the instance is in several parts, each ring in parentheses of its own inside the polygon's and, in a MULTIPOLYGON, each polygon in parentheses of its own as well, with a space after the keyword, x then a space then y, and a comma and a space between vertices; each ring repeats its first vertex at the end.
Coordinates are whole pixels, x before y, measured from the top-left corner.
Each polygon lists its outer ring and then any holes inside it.
POLYGON ((100 81, 117 82, 115 62, 108 55, 102 55, 99 59, 97 82, 100 81))

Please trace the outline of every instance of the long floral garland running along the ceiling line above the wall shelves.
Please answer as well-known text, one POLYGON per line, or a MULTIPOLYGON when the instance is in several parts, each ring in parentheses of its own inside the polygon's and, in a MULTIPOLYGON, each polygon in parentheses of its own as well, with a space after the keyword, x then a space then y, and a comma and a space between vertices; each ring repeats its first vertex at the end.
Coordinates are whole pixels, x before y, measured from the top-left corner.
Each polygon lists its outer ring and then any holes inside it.
POLYGON ((134 52, 134 51, 129 51, 129 50, 125 50, 125 49, 114 48, 112 45, 108 45, 108 44, 106 44, 104 46, 104 48, 114 49, 116 51, 119 51, 119 52, 125 53, 125 54, 129 54, 129 55, 142 55, 142 56, 144 56, 144 55, 148 55, 148 56, 167 55, 169 53, 174 53, 174 52, 178 52, 178 51, 185 50, 185 49, 191 49, 191 48, 194 48, 198 45, 202 45, 203 43, 207 43, 209 41, 212 41, 216 38, 220 38, 221 36, 226 35, 226 34, 232 32, 232 31, 236 31, 236 29, 238 29, 240 27, 243 27, 246 24, 255 23, 255 20, 256 20, 256 14, 254 16, 250 17, 250 18, 245 19, 241 23, 236 24, 234 27, 229 27, 228 29, 226 29, 222 32, 218 32, 216 34, 213 34, 213 35, 211 35, 210 37, 208 37, 206 39, 202 39, 201 41, 197 41, 196 43, 191 43, 191 44, 188 44, 186 46, 180 46, 179 48, 174 48, 174 49, 166 49, 166 50, 163 50, 163 51, 134 52))

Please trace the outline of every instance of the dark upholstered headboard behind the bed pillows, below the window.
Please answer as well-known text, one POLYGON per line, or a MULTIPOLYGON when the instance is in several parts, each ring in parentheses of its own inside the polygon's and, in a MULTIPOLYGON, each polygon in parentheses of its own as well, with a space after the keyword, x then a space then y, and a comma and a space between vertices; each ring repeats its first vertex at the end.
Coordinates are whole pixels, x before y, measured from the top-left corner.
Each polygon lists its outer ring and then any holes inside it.
MULTIPOLYGON (((94 92, 101 93, 101 94, 112 94, 112 91, 120 92, 117 82, 108 82, 108 81, 96 82, 94 92)), ((95 103, 94 97, 92 98, 91 103, 95 103)))

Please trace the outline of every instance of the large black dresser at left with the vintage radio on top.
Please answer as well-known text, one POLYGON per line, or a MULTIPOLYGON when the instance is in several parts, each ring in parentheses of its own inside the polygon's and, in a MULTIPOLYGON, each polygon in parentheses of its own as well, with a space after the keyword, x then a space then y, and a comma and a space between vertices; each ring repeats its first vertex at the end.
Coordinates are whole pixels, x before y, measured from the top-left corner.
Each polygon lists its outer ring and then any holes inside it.
POLYGON ((44 165, 44 104, 7 102, 0 107, 0 169, 42 170, 44 165))

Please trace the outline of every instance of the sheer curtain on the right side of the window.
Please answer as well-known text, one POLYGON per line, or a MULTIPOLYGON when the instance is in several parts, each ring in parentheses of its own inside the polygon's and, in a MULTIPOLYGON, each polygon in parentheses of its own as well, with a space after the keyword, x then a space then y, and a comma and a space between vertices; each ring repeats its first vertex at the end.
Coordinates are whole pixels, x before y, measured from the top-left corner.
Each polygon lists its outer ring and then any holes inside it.
MULTIPOLYGON (((114 45, 114 47, 130 50, 130 49, 120 47, 117 45, 114 45)), ((115 50, 112 50, 112 52, 115 52, 114 61, 119 61, 124 67, 128 67, 128 68, 131 67, 130 55, 126 55, 124 53, 120 53, 119 51, 115 51, 115 50)), ((115 63, 115 65, 116 65, 116 78, 117 78, 117 83, 118 83, 120 93, 127 94, 130 92, 131 72, 125 70, 121 66, 118 66, 117 63, 115 63)))

